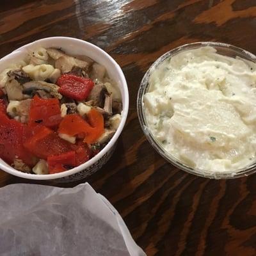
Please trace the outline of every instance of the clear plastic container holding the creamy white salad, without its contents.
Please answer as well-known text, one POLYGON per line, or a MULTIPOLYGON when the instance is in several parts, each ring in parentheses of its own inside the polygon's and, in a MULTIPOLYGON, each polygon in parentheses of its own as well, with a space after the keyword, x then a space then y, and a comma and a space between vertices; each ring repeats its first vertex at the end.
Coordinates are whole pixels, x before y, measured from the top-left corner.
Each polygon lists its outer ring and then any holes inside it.
POLYGON ((138 98, 137 98, 137 110, 138 110, 138 118, 140 120, 141 128, 147 138, 147 140, 150 142, 150 144, 156 149, 156 151, 164 157, 167 161, 172 163, 174 166, 177 166, 179 169, 184 170, 188 173, 192 173, 194 175, 200 176, 200 177, 207 177, 210 179, 233 179, 238 177, 244 177, 251 175, 252 173, 256 172, 256 163, 247 166, 246 168, 241 168, 238 170, 234 170, 233 172, 213 172, 211 170, 203 170, 199 168, 192 168, 182 162, 179 161, 179 159, 175 158, 171 154, 168 154, 166 150, 160 145, 160 143, 154 138, 153 134, 150 132, 150 129, 147 125, 147 118, 145 117, 144 109, 143 109, 143 95, 147 93, 148 87, 149 87, 149 78, 152 72, 157 68, 159 64, 161 64, 166 58, 170 56, 175 56, 179 52, 187 51, 190 49, 196 49, 202 46, 211 46, 214 47, 218 54, 221 54, 223 56, 229 56, 232 58, 236 58, 236 56, 239 56, 240 58, 243 58, 248 61, 253 61, 256 63, 256 56, 252 53, 245 51, 244 49, 241 49, 239 47, 236 47, 234 45, 229 44, 223 44, 218 42, 196 42, 193 44, 186 44, 182 45, 180 47, 177 47, 171 51, 166 52, 161 57, 159 57, 150 68, 148 68, 145 76, 143 77, 140 88, 138 91, 138 98))

